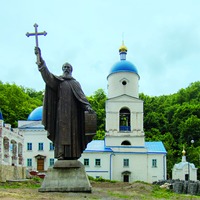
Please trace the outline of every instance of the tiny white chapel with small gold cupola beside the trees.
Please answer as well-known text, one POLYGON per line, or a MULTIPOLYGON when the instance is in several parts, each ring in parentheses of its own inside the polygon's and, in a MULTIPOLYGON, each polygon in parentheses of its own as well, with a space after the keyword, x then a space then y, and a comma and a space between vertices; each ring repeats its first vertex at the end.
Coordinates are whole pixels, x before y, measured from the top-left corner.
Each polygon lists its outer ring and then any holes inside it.
POLYGON ((197 168, 193 163, 186 161, 186 151, 184 149, 182 154, 181 162, 175 164, 172 169, 172 179, 197 181, 197 168))

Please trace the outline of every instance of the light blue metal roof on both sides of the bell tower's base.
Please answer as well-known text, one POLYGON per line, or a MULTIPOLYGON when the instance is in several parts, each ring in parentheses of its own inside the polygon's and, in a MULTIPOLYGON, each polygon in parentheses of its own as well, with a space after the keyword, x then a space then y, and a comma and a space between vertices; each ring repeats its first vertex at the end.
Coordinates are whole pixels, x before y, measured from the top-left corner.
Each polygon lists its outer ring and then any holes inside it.
MULTIPOLYGON (((147 149, 146 153, 150 154, 167 153, 162 142, 145 142, 145 148, 147 149)), ((92 140, 84 152, 112 152, 112 149, 105 146, 104 140, 92 140)))

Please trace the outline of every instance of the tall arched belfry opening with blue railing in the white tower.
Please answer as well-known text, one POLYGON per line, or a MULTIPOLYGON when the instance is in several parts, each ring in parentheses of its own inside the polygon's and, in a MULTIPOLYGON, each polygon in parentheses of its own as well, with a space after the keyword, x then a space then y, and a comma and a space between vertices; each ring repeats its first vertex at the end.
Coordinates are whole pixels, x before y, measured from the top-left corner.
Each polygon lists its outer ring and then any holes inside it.
POLYGON ((119 112, 119 130, 123 131, 131 131, 130 126, 130 110, 127 108, 122 108, 119 112))

